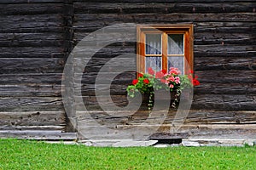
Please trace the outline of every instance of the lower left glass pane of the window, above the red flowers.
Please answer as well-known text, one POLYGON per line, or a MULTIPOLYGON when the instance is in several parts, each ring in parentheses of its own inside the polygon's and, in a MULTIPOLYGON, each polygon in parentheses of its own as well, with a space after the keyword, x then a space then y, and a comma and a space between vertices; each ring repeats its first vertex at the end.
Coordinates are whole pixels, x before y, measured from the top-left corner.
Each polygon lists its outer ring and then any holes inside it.
POLYGON ((148 73, 148 67, 151 67, 154 71, 162 70, 162 58, 161 57, 146 57, 145 72, 148 73))

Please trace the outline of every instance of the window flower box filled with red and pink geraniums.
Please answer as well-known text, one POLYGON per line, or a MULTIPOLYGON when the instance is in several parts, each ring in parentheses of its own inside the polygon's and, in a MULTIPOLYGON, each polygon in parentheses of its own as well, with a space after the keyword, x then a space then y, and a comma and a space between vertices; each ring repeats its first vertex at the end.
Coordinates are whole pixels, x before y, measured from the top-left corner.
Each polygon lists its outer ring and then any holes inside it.
MULTIPOLYGON (((133 80, 132 85, 128 86, 126 90, 131 98, 135 98, 139 93, 143 94, 141 109, 147 105, 148 110, 151 110, 156 99, 159 101, 158 106, 166 105, 168 102, 170 108, 177 108, 182 91, 200 84, 196 78, 191 77, 191 75, 181 75, 181 71, 174 67, 171 67, 168 73, 166 71, 155 73, 151 68, 148 68, 148 73, 139 73, 138 78, 133 80), (168 93, 171 95, 170 98, 166 96, 168 93)), ((137 102, 141 103, 140 101, 137 102)))

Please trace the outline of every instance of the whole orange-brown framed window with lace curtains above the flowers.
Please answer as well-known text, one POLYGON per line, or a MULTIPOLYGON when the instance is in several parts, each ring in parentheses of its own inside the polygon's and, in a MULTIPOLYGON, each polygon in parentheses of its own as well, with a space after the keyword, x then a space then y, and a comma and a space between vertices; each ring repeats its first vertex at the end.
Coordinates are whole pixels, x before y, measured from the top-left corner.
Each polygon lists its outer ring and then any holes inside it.
POLYGON ((137 72, 193 70, 193 25, 137 26, 137 72))

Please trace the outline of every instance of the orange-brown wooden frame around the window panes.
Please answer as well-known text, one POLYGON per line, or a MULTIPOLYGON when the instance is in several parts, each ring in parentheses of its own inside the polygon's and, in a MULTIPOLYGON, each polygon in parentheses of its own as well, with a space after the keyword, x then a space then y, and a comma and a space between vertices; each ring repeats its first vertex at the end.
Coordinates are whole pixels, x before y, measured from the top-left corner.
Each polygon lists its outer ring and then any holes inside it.
POLYGON ((187 65, 184 65, 184 74, 189 74, 193 71, 193 24, 175 24, 175 25, 148 25, 137 26, 137 73, 145 71, 145 34, 146 33, 163 33, 162 37, 162 69, 167 68, 167 34, 183 34, 184 35, 184 58, 187 60, 187 65))

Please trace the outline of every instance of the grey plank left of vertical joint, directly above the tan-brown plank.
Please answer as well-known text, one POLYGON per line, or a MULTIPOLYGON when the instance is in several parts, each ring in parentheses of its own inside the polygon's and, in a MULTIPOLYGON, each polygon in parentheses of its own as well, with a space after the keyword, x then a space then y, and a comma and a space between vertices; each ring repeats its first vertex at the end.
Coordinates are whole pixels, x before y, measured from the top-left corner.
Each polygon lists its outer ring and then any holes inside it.
POLYGON ((9 97, 0 99, 1 112, 63 111, 60 97, 9 97))

